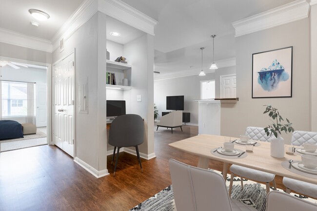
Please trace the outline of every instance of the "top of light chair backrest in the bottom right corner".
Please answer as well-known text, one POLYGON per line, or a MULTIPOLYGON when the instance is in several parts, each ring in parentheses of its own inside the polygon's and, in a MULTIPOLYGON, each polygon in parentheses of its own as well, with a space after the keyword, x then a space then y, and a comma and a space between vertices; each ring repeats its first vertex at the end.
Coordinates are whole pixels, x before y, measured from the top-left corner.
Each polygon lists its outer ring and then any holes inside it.
POLYGON ((270 191, 266 211, 317 211, 317 205, 280 191, 270 191))

